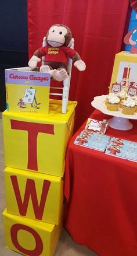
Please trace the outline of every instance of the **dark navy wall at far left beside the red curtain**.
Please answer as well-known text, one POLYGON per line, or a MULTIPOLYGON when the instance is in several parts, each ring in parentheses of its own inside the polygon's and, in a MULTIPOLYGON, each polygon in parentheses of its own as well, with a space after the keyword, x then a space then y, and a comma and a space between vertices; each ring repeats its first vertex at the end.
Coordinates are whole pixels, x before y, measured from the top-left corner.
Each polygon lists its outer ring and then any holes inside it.
POLYGON ((27 66, 27 0, 1 0, 0 111, 6 108, 5 68, 27 66))

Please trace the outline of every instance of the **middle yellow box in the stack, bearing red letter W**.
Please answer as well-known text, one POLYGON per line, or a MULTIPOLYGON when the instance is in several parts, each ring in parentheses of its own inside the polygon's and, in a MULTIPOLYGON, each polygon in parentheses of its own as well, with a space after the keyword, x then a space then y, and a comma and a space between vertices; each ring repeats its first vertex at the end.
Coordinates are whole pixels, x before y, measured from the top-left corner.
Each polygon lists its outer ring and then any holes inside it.
POLYGON ((5 187, 8 213, 59 224, 63 215, 62 178, 6 167, 5 187))

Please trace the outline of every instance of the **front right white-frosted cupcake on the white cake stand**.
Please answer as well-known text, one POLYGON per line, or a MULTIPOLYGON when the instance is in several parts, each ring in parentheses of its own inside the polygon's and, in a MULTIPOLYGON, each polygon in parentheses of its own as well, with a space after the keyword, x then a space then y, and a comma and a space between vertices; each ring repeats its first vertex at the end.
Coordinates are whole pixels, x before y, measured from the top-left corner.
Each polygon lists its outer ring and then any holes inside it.
POLYGON ((122 103, 122 114, 133 115, 135 112, 135 101, 130 96, 122 103))

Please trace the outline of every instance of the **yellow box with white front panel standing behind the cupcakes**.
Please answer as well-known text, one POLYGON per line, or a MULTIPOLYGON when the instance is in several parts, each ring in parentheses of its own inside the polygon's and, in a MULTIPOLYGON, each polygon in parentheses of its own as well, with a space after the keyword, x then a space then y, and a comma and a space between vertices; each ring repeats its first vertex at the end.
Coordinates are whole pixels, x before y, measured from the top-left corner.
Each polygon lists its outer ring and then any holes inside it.
POLYGON ((116 54, 109 92, 127 90, 129 96, 137 95, 137 54, 121 51, 116 54), (126 87, 125 87, 126 86, 126 87))

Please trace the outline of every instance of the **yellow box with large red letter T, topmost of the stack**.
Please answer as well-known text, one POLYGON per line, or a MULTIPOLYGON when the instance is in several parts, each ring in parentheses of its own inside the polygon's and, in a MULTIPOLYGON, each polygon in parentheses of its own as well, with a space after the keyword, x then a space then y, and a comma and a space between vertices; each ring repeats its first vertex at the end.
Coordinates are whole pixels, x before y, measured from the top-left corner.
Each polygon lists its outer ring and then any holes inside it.
POLYGON ((51 100, 49 114, 3 112, 6 166, 62 177, 66 146, 73 134, 75 101, 62 114, 62 101, 51 100))

